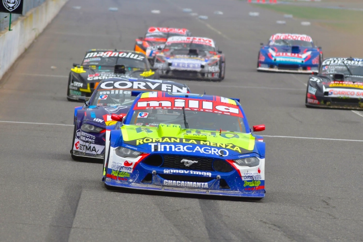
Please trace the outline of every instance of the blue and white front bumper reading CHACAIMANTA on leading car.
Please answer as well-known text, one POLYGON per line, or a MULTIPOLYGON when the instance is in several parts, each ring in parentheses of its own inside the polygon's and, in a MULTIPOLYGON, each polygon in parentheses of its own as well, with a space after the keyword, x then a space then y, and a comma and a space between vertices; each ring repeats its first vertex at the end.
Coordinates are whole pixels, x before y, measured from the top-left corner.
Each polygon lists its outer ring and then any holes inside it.
POLYGON ((264 177, 259 175, 264 170, 264 159, 260 166, 245 167, 244 170, 199 171, 188 170, 188 167, 152 166, 149 164, 153 160, 151 156, 146 162, 149 154, 127 159, 115 157, 114 149, 110 149, 103 179, 107 189, 120 187, 201 195, 265 197, 264 177))

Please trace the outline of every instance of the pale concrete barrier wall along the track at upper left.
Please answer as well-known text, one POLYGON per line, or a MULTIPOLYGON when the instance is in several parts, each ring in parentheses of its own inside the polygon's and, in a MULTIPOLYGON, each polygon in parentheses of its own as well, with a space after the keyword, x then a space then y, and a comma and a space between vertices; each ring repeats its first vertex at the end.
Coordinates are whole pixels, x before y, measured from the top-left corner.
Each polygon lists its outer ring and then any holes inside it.
POLYGON ((16 59, 59 13, 67 0, 47 0, 0 32, 0 79, 16 59))

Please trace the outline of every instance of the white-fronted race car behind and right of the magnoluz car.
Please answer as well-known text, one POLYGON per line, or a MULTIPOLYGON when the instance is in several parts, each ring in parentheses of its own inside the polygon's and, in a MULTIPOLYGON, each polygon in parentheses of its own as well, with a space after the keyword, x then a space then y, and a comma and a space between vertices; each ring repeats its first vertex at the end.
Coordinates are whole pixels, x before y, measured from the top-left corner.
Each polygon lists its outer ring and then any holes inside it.
POLYGON ((169 37, 160 54, 154 57, 160 76, 223 80, 226 59, 212 39, 169 37))

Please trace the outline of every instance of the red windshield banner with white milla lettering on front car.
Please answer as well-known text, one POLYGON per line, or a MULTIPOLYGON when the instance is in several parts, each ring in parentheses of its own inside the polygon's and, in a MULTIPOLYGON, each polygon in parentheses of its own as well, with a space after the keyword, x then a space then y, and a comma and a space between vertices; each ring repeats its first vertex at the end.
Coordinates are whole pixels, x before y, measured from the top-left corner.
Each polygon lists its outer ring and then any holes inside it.
POLYGON ((231 101, 231 103, 233 104, 182 98, 142 98, 138 100, 134 109, 163 108, 181 110, 182 107, 185 107, 185 110, 221 113, 242 118, 242 113, 236 102, 231 101))

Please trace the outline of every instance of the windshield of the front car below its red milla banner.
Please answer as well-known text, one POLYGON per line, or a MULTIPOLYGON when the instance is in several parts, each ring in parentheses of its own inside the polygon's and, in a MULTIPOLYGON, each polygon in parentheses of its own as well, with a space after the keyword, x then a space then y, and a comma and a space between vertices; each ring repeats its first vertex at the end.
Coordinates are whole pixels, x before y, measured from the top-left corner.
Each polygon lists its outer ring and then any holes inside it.
MULTIPOLYGON (((185 110, 189 129, 212 131, 232 131, 246 133, 242 118, 221 113, 185 110)), ((138 109, 134 110, 130 124, 140 126, 158 126, 180 124, 185 128, 182 110, 173 109, 138 109)))

